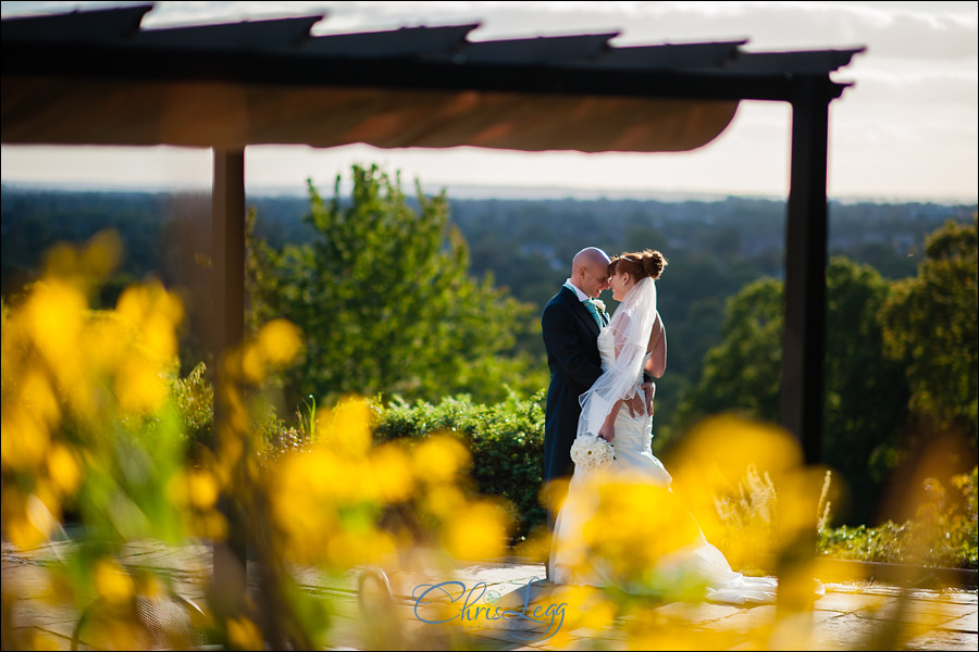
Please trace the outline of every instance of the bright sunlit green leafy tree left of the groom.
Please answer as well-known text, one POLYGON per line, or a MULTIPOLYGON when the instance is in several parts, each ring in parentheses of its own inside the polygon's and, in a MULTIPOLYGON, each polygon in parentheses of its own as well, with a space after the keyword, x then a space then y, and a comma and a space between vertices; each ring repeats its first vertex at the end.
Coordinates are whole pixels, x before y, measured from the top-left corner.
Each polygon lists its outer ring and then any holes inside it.
POLYGON ((445 192, 426 198, 418 186, 416 211, 399 177, 375 165, 355 165, 352 177, 346 202, 339 176, 329 203, 309 183, 312 241, 275 250, 249 238, 256 323, 285 317, 307 338, 287 397, 470 392, 488 401, 506 396, 508 379, 536 390, 541 379, 506 358, 530 308, 495 289, 491 274, 468 275, 445 192))

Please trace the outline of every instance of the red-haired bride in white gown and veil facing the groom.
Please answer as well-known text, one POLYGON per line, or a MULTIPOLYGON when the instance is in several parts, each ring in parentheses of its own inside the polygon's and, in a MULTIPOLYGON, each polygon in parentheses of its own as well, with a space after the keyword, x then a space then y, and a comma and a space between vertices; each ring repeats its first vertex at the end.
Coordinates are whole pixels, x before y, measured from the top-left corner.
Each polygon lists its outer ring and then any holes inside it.
POLYGON ((621 254, 608 265, 612 298, 620 303, 598 336, 604 374, 580 398, 575 446, 603 444, 594 439, 597 435, 614 443, 615 459, 600 467, 575 461, 555 523, 549 576, 555 584, 629 593, 678 594, 682 586, 685 595, 692 588, 715 602, 773 602, 777 580, 731 569, 679 505, 670 490, 672 477, 650 450, 652 392, 643 396, 642 383, 644 369, 657 378, 666 369, 666 329, 656 310, 655 283, 666 265, 664 255, 650 250, 621 254), (617 509, 609 510, 609 502, 617 509), (627 507, 632 513, 623 515, 627 507), (633 527, 636 522, 639 528, 633 527), (627 530, 628 541, 610 543, 627 530))

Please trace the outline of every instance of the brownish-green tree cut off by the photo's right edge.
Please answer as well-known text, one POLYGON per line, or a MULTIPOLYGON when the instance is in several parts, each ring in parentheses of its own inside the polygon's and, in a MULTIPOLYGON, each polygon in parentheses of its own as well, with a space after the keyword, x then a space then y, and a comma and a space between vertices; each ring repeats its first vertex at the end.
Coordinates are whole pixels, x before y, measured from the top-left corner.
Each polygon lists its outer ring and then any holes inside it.
POLYGON ((947 222, 925 243, 918 275, 894 285, 882 311, 889 354, 906 365, 908 406, 930 434, 977 448, 977 220, 947 222))

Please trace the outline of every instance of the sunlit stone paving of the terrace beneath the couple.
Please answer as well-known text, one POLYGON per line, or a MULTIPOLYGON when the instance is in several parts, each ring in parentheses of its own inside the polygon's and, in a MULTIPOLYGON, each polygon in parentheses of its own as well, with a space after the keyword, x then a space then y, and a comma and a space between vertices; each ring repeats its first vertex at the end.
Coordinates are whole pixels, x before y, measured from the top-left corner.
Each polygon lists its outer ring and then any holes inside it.
MULTIPOLYGON (((63 597, 51 594, 47 572, 48 565, 64 559, 69 552, 66 542, 34 551, 18 551, 4 542, 4 600, 10 598, 14 605, 13 620, 4 624, 4 628, 9 625, 25 635, 25 640, 34 640, 42 648, 70 649, 77 612, 60 599, 63 597)), ((161 572, 173 580, 181 594, 199 599, 210 573, 211 551, 206 546, 174 549, 148 542, 127 547, 120 561, 129 567, 161 572)), ((253 566, 249 565, 250 576, 257 576, 253 566)), ((326 576, 310 568, 294 570, 301 588, 327 600, 334 650, 376 649, 392 643, 467 650, 621 650, 632 644, 628 640, 629 631, 649 627, 648 623, 620 617, 611 628, 561 631, 554 639, 543 638, 547 632, 545 625, 516 619, 478 630, 438 628, 417 617, 412 592, 418 586, 456 580, 469 589, 484 584, 503 599, 501 604, 509 601, 512 606, 522 604, 528 582, 543 579, 544 566, 517 560, 484 561, 448 569, 432 567, 420 570, 424 568, 421 565, 412 572, 387 572, 394 589, 397 627, 389 635, 394 639, 385 639, 383 631, 367 622, 358 604, 358 579, 367 568, 355 568, 338 576, 326 576)), ((811 626, 808 638, 780 631, 773 605, 650 604, 648 614, 658 622, 683 624, 678 635, 682 638, 677 640, 689 648, 853 650, 878 649, 876 645, 888 643, 893 649, 955 651, 976 650, 979 643, 975 590, 905 590, 859 581, 831 582, 826 589, 826 595, 816 601, 808 615, 806 625, 811 626), (896 625, 895 619, 900 620, 896 625), (717 647, 709 647, 712 644, 717 647)), ((538 593, 535 603, 546 602, 548 595, 546 590, 538 593)), ((666 638, 657 644, 667 645, 670 640, 666 638)))

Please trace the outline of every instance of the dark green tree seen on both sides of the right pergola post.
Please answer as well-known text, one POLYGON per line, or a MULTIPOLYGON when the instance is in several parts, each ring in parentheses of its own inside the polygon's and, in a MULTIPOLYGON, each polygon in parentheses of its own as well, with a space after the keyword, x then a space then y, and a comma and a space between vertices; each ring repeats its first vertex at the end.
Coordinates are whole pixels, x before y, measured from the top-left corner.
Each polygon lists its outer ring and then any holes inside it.
MULTIPOLYGON (((878 319, 888 288, 872 267, 845 258, 827 268, 822 461, 845 478, 853 496, 846 516, 860 523, 875 516, 906 416, 903 367, 885 358, 878 319)), ((778 421, 782 294, 781 281, 763 278, 729 301, 723 340, 708 351, 701 380, 683 397, 681 426, 731 410, 778 421)))

